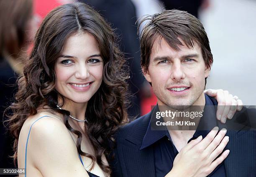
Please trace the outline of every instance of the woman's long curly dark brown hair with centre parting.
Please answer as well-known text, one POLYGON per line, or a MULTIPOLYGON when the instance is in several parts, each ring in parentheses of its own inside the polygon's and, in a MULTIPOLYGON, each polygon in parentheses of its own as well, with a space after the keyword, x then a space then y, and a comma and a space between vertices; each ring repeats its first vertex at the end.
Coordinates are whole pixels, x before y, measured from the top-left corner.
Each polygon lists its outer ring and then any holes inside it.
POLYGON ((110 167, 102 162, 102 155, 109 156, 110 145, 115 142, 113 135, 118 126, 126 122, 128 105, 128 70, 116 39, 110 25, 84 3, 62 5, 45 17, 36 33, 35 44, 26 61, 23 75, 18 80, 19 90, 15 102, 9 108, 13 111, 8 123, 15 137, 15 162, 23 123, 27 117, 37 113, 39 106, 48 105, 51 110, 64 116, 67 129, 78 136, 76 145, 79 154, 90 157, 92 167, 96 161, 105 173, 111 173, 110 167), (62 100, 64 97, 55 89, 54 66, 67 37, 80 31, 89 32, 95 37, 104 62, 102 84, 89 100, 85 115, 88 121, 86 132, 96 157, 82 152, 82 133, 69 125, 70 112, 56 107, 58 97, 62 97, 62 100))

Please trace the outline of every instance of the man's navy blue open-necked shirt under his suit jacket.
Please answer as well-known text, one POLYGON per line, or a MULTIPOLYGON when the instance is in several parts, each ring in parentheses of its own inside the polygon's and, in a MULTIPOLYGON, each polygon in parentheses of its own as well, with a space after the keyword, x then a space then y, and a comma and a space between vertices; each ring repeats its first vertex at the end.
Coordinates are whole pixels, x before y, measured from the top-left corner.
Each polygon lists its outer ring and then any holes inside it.
MULTIPOLYGON (((207 95, 205 95, 205 105, 213 106, 213 102, 207 95)), ((153 114, 151 115, 151 120, 158 111, 159 108, 156 105, 153 114)), ((217 125, 216 121, 217 119, 215 110, 207 109, 207 111, 205 111, 204 109, 203 117, 201 117, 198 127, 204 126, 206 129, 196 130, 195 134, 188 141, 188 143, 200 135, 202 135, 203 138, 206 137, 210 130, 217 125)), ((151 121, 149 122, 147 132, 143 138, 141 150, 149 146, 153 146, 154 148, 156 177, 164 177, 172 170, 174 158, 179 152, 174 146, 168 130, 151 130, 151 121)), ((218 165, 218 167, 216 167, 215 170, 213 170, 213 172, 208 175, 208 177, 226 177, 224 163, 218 165)))

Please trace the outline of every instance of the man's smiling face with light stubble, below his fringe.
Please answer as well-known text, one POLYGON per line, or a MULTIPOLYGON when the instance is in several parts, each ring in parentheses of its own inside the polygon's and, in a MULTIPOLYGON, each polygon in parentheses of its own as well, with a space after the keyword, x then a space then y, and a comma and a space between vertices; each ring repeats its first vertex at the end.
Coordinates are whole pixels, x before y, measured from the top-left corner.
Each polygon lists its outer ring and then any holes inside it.
POLYGON ((182 40, 176 51, 161 38, 155 40, 144 76, 151 82, 158 105, 180 109, 184 105, 205 105, 205 77, 210 70, 205 67, 202 52, 196 42, 189 49, 182 40))

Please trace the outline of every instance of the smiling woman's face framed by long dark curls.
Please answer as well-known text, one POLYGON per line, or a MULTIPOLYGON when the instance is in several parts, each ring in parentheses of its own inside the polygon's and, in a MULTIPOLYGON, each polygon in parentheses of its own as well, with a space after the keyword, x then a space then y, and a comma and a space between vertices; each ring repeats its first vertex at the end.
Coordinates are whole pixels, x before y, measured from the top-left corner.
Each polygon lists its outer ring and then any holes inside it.
POLYGON ((57 59, 56 90, 68 100, 86 103, 102 82, 103 60, 98 42, 88 32, 71 35, 57 59))

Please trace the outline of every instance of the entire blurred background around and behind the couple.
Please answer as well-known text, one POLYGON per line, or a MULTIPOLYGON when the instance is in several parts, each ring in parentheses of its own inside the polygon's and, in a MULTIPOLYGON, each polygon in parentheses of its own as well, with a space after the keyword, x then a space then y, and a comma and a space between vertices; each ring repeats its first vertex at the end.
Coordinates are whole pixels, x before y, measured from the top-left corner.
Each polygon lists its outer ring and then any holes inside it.
MULTIPOLYGON (((256 0, 79 0, 104 16, 120 38, 120 48, 130 67, 133 93, 131 117, 144 115, 156 104, 140 67, 135 24, 143 15, 163 8, 185 10, 198 17, 210 40, 214 62, 207 88, 228 90, 244 105, 256 105, 256 0)), ((13 167, 11 137, 3 126, 3 111, 17 90, 33 37, 46 14, 72 0, 0 0, 0 168, 13 167), (7 134, 6 134, 7 132, 7 134)), ((9 177, 11 175, 8 175, 9 177)))

